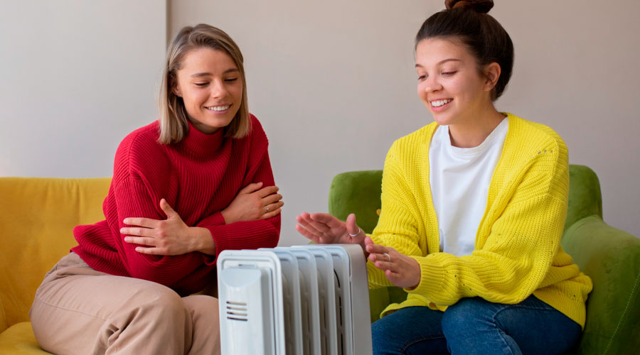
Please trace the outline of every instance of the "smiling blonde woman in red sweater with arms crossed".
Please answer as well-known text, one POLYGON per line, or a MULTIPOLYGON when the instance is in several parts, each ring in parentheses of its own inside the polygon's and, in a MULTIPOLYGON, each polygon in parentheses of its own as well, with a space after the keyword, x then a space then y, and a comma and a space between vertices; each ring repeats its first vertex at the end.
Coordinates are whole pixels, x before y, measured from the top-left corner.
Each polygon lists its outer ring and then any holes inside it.
POLYGON ((120 143, 105 220, 75 227, 78 246, 38 288, 30 316, 43 349, 219 354, 216 256, 276 246, 283 204, 242 61, 218 28, 176 34, 159 121, 120 143))

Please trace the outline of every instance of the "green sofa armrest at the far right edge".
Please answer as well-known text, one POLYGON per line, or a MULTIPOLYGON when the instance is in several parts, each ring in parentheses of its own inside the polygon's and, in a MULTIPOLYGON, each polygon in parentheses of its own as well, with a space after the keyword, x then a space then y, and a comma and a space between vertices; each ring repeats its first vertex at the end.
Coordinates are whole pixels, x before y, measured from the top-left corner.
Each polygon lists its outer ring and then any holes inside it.
POLYGON ((562 248, 594 285, 577 354, 635 354, 640 348, 640 239, 594 215, 565 231, 562 248))

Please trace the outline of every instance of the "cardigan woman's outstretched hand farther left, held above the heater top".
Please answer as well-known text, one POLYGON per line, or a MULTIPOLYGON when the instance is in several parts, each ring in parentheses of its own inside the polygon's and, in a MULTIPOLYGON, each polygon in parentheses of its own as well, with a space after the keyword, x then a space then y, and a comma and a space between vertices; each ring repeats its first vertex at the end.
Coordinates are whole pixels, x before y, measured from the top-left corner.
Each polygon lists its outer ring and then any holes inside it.
POLYGON ((296 217, 296 230, 317 244, 360 244, 365 251, 365 232, 356 224, 356 215, 349 214, 346 222, 328 213, 308 214, 296 217))

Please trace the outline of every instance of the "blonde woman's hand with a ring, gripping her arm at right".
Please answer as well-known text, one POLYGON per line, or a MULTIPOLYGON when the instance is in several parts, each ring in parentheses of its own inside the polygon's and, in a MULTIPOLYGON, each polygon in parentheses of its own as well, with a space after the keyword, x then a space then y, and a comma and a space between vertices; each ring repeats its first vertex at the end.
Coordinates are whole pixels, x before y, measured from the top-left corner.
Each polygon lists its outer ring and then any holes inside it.
POLYGON ((257 221, 275 217, 282 212, 282 195, 277 186, 262 187, 262 182, 247 185, 238 192, 231 204, 220 213, 226 224, 257 221))

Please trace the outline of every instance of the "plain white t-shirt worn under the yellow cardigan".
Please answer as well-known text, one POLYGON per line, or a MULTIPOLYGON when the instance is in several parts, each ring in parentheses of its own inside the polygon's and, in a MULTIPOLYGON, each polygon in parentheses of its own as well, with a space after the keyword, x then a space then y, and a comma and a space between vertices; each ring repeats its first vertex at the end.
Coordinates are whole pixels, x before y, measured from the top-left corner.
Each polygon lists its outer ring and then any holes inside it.
POLYGON ((508 131, 503 119, 474 148, 451 145, 449 126, 439 126, 429 148, 430 183, 440 232, 440 251, 455 256, 474 251, 486 209, 489 184, 508 131))

